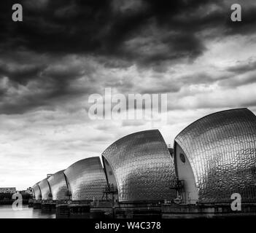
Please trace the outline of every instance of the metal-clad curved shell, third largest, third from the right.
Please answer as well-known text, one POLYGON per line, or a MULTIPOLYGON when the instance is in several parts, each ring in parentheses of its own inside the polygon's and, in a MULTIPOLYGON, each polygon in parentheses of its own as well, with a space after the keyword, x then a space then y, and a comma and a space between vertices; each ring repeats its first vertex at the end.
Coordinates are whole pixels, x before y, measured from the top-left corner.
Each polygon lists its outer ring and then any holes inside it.
POLYGON ((72 200, 100 200, 106 175, 99 157, 79 160, 64 171, 69 180, 72 200))

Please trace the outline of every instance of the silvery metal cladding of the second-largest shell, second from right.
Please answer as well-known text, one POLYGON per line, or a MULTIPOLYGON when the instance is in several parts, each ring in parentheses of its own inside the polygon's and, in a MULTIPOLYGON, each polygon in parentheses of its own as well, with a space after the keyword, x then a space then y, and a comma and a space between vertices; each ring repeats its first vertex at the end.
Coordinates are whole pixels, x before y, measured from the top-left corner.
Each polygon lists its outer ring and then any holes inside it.
POLYGON ((109 146, 102 157, 112 167, 120 202, 176 197, 170 189, 175 181, 174 162, 158 130, 127 135, 109 146))

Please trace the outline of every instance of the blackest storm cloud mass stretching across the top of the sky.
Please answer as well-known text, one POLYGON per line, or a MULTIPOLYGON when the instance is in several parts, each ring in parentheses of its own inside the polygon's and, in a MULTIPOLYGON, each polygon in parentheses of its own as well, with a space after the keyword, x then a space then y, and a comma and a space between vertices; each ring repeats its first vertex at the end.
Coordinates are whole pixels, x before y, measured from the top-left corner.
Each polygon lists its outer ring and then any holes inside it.
MULTIPOLYGON (((8 25, 1 30, 5 37, 2 47, 27 47, 36 52, 85 53, 105 55, 136 63, 156 63, 161 60, 196 58, 205 47, 196 33, 218 20, 217 12, 201 15, 198 8, 211 8, 220 1, 24 1, 23 23, 12 23, 4 14, 8 25), (38 6, 42 4, 42 7, 38 6), (211 5, 210 5, 211 4, 211 5), (209 5, 209 6, 208 6, 209 5), (40 10, 39 10, 40 9, 40 10), (195 12, 195 13, 193 13, 195 12), (199 14, 196 14, 199 13, 199 14), (207 23, 208 22, 208 23, 207 23), (155 29, 150 28, 155 25, 155 29), (168 33, 172 31, 173 33, 168 33), (149 42, 127 47, 125 42, 142 38, 155 38, 149 42), (9 41, 9 42, 7 42, 9 41), (154 49, 162 44, 166 50, 143 55, 136 49, 154 49), (133 50, 131 50, 133 49, 133 50)), ((109 60, 109 59, 106 59, 109 60)))

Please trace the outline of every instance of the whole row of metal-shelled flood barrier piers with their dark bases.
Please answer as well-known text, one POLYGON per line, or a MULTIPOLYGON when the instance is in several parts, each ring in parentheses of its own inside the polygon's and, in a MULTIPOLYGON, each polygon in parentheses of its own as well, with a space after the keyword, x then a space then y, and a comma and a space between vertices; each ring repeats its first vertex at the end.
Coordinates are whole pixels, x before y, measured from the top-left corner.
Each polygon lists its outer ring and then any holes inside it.
POLYGON ((172 148, 159 130, 126 135, 33 192, 30 206, 57 218, 255 216, 256 116, 247 108, 204 116, 172 148))

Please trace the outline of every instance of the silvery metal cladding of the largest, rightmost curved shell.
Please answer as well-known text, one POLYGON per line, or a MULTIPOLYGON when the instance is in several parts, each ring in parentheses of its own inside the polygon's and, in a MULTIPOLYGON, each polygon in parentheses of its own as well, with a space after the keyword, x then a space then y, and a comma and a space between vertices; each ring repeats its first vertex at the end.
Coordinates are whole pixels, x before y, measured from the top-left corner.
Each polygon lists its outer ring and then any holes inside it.
POLYGON ((256 116, 247 108, 205 116, 175 142, 190 161, 199 202, 230 202, 233 193, 256 201, 256 116))

